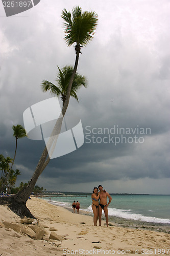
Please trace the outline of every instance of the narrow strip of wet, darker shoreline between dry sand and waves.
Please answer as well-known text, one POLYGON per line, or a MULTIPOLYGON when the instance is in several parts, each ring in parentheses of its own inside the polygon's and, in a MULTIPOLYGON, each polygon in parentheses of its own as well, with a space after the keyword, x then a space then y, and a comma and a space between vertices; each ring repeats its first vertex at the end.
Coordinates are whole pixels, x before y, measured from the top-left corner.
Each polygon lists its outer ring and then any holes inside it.
MULTIPOLYGON (((59 206, 59 205, 55 204, 55 201, 48 201, 48 200, 45 200, 45 201, 47 203, 53 204, 54 206, 59 206)), ((68 211, 72 212, 72 208, 69 208, 66 206, 61 206, 61 205, 59 207, 62 207, 64 209, 67 209, 68 211)), ((89 217, 93 217, 92 212, 81 210, 81 209, 80 209, 80 214, 89 216, 89 217)), ((105 217, 103 215, 102 215, 102 223, 103 223, 103 225, 106 225, 105 217)), ((98 224, 99 224, 99 222, 98 222, 98 224)), ((155 223, 155 222, 144 222, 144 221, 132 220, 132 219, 129 220, 129 219, 111 217, 111 216, 109 216, 109 226, 150 230, 150 231, 164 232, 164 233, 170 234, 170 225, 168 225, 168 224, 155 223)))

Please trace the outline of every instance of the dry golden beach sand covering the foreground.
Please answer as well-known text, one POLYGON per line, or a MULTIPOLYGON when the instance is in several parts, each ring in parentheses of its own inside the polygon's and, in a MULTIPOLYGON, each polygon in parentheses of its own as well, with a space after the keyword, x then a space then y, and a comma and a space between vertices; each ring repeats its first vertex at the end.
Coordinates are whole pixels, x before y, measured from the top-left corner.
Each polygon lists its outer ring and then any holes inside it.
MULTIPOLYGON (((39 226, 46 226, 42 240, 32 239, 22 232, 5 228, 3 223, 20 223, 20 218, 6 206, 0 206, 0 255, 170 255, 170 234, 151 230, 120 227, 93 226, 88 215, 73 214, 60 206, 32 197, 27 206, 39 219, 39 226), (51 231, 53 227, 55 231, 51 231), (65 238, 49 239, 55 232, 65 238), (168 250, 169 249, 169 250, 168 250)), ((23 225, 23 224, 22 224, 23 225)), ((37 224, 36 224, 37 225, 37 224)))

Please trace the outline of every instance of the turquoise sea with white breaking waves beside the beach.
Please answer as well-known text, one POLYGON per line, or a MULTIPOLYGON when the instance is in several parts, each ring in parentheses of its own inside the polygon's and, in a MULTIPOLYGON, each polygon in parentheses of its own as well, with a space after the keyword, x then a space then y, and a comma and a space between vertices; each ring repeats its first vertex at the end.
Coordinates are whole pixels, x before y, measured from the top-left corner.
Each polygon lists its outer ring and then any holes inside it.
MULTIPOLYGON (((68 193, 64 193, 68 195, 68 193)), ((70 193, 68 197, 54 197, 51 202, 56 205, 71 208, 72 202, 79 201, 81 210, 92 214, 91 196, 70 193), (83 197, 81 197, 83 196, 83 197)), ((112 202, 108 207, 108 215, 128 220, 138 220, 170 225, 170 196, 169 195, 111 195, 112 202)), ((50 197, 50 195, 49 195, 50 197)), ((48 199, 48 198, 43 198, 48 199)))

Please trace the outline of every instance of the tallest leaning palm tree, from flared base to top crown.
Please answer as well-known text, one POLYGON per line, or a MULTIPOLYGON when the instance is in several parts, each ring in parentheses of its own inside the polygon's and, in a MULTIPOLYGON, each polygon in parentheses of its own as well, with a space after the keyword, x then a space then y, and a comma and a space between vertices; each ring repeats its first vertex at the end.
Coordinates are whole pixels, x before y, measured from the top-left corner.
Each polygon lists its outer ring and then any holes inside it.
MULTIPOLYGON (((72 71, 65 103, 62 108, 62 116, 64 117, 68 104, 69 104, 69 98, 71 95, 71 87, 72 83, 74 82, 74 77, 77 71, 78 67, 78 60, 79 60, 79 54, 81 53, 81 47, 85 46, 90 42, 90 40, 93 38, 97 23, 98 23, 98 15, 95 12, 82 12, 81 8, 79 6, 72 9, 72 16, 70 12, 67 12, 65 9, 62 12, 61 16, 65 23, 65 40, 68 46, 71 46, 72 44, 76 43, 75 46, 75 52, 76 52, 76 60, 75 60, 75 66, 74 70, 72 71)), ((61 118, 58 118, 60 120, 61 118)), ((60 121, 59 121, 60 122, 60 121)), ((61 129, 61 122, 56 122, 55 128, 58 129, 57 131, 60 131, 61 129), (58 128, 59 126, 59 128, 58 128)), ((26 207, 26 202, 31 195, 31 192, 34 189, 34 186, 36 184, 36 181, 40 174, 42 173, 42 170, 44 169, 45 164, 47 164, 46 157, 47 157, 48 151, 47 147, 44 148, 44 151, 42 152, 42 155, 39 159, 39 162, 37 164, 37 167, 35 169, 35 172, 28 183, 28 186, 26 188, 23 188, 21 191, 19 191, 16 195, 5 198, 0 198, 0 204, 4 204, 7 202, 8 207, 13 210, 17 215, 20 217, 31 217, 35 218, 30 210, 26 207)), ((48 159, 47 159, 48 160, 48 159)))

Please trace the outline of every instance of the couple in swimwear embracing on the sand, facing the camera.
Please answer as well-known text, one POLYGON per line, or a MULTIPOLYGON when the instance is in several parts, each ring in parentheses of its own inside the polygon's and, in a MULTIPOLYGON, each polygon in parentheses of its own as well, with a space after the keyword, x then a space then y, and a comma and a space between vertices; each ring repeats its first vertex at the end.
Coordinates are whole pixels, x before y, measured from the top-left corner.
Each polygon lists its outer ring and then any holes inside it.
POLYGON ((93 222, 94 226, 97 225, 97 221, 99 218, 99 226, 102 225, 102 210, 104 210, 105 213, 105 218, 106 218, 106 225, 108 227, 109 220, 108 220, 108 205, 111 203, 112 198, 109 195, 109 193, 106 192, 106 190, 103 190, 102 185, 99 185, 98 187, 94 187, 93 193, 91 195, 91 200, 92 200, 92 210, 93 210, 93 222), (98 192, 99 188, 99 192, 98 192), (109 198, 109 202, 107 204, 107 197, 109 198), (99 202, 100 200, 100 202, 99 202))

